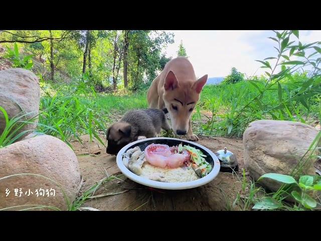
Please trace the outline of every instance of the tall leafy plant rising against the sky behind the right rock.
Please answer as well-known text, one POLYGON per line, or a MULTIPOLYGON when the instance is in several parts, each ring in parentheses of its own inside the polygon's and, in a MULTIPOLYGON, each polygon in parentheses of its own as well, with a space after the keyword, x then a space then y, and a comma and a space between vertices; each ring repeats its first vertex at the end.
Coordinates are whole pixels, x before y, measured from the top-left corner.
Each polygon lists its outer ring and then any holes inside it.
POLYGON ((298 41, 298 44, 293 44, 295 41, 289 42, 291 35, 299 37, 299 32, 296 30, 293 31, 283 31, 279 33, 274 31, 276 36, 275 38, 270 37, 271 40, 277 42, 277 47, 274 47, 278 55, 277 57, 268 57, 263 61, 257 60, 262 63, 261 68, 267 68, 270 72, 265 72, 268 76, 268 79, 263 88, 257 85, 256 81, 249 81, 258 91, 259 94, 255 96, 249 103, 247 103, 241 110, 243 111, 255 111, 258 107, 271 115, 273 119, 290 119, 293 117, 293 113, 296 112, 296 109, 299 105, 302 105, 304 108, 309 110, 308 102, 309 99, 315 95, 321 94, 321 78, 320 78, 320 68, 318 67, 321 58, 321 52, 319 47, 320 42, 314 42, 306 45, 302 45, 298 41), (305 51, 308 49, 315 49, 315 52, 305 56, 305 51), (295 56, 302 57, 302 61, 291 60, 290 58, 295 56), (313 57, 313 58, 312 58, 313 57), (274 66, 271 66, 268 60, 275 59, 276 62, 274 66), (282 66, 281 71, 275 73, 276 67, 282 66), (289 92, 286 88, 282 87, 281 81, 286 77, 291 77, 291 74, 295 73, 302 66, 312 66, 312 70, 306 75, 306 79, 303 81, 302 85, 295 89, 292 92, 289 92), (278 93, 278 103, 275 106, 270 108, 265 108, 262 98, 266 91, 269 91, 273 88, 277 89, 278 93))

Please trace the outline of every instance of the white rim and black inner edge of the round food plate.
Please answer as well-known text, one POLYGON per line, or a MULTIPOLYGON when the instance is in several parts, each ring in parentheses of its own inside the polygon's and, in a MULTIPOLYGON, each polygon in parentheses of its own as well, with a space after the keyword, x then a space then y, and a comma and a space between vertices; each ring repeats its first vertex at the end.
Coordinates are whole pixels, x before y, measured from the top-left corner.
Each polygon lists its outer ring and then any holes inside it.
MULTIPOLYGON (((141 148, 142 149, 142 148, 141 148)), ((142 149, 144 150, 144 149, 142 149)), ((209 183, 212 181, 219 173, 220 171, 220 161, 216 157, 216 155, 207 149, 206 147, 199 145, 195 142, 190 142, 182 139, 176 139, 176 138, 166 138, 166 137, 159 137, 159 138, 147 138, 147 139, 142 139, 138 140, 135 142, 132 142, 126 146, 124 146, 117 154, 116 157, 116 162, 117 166, 120 169, 120 171, 129 179, 133 180, 134 182, 140 183, 142 185, 148 186, 148 187, 153 187, 153 188, 159 188, 159 189, 170 189, 170 190, 179 190, 179 189, 189 189, 189 188, 194 188, 194 187, 199 187, 202 186, 206 183, 209 183), (205 177, 202 177, 198 180, 195 181, 190 181, 190 182, 157 182, 157 181, 152 181, 147 178, 140 177, 130 170, 128 170, 125 165, 122 162, 122 154, 126 152, 128 149, 133 148, 135 146, 147 146, 149 144, 155 143, 155 144, 166 144, 171 146, 174 145, 179 145, 180 143, 183 142, 183 145, 190 145, 193 146, 194 148, 200 149, 204 155, 207 155, 206 160, 212 164, 212 171, 206 175, 205 177), (169 143, 169 144, 168 144, 169 143)))

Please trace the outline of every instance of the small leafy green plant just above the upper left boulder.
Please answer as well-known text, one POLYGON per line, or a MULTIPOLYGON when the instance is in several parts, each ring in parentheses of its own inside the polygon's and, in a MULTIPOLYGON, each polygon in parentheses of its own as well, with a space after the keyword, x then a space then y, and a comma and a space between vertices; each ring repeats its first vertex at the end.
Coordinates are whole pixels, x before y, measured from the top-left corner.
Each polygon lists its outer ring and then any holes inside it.
POLYGON ((19 53, 17 43, 15 43, 14 49, 7 47, 7 54, 5 54, 4 57, 12 60, 13 67, 15 68, 31 69, 33 67, 33 55, 22 56, 19 53))

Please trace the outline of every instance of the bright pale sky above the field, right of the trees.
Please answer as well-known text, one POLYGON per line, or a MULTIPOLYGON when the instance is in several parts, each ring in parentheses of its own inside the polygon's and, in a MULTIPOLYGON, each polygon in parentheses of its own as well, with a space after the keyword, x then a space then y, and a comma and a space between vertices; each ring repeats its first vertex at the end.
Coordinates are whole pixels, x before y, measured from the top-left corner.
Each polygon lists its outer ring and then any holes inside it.
MULTIPOLYGON (((277 56, 277 51, 273 48, 277 43, 268 39, 268 37, 275 36, 275 33, 270 30, 177 30, 166 32, 174 33, 175 42, 169 44, 167 48, 163 49, 163 52, 167 56, 177 57, 178 47, 182 40, 198 77, 205 74, 208 74, 209 77, 225 77, 230 73, 232 67, 247 76, 261 75, 267 69, 261 69, 262 64, 255 60, 277 56)), ((291 40, 297 41, 294 35, 291 40)), ((299 31, 299 40, 302 44, 321 41, 321 31, 299 31)), ((299 57, 293 57, 291 60, 299 59, 299 57)), ((273 60, 270 63, 272 65, 273 60)))

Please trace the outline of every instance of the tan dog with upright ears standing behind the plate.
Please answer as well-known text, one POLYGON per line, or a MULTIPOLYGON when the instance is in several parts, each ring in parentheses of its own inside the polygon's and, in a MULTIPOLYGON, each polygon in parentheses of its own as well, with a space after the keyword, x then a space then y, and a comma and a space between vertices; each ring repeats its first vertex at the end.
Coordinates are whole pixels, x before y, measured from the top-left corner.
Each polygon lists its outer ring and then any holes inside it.
POLYGON ((188 140, 198 141, 192 131, 191 114, 206 81, 207 75, 196 79, 194 68, 187 58, 172 59, 148 89, 149 108, 167 108, 174 133, 187 134, 188 140))

